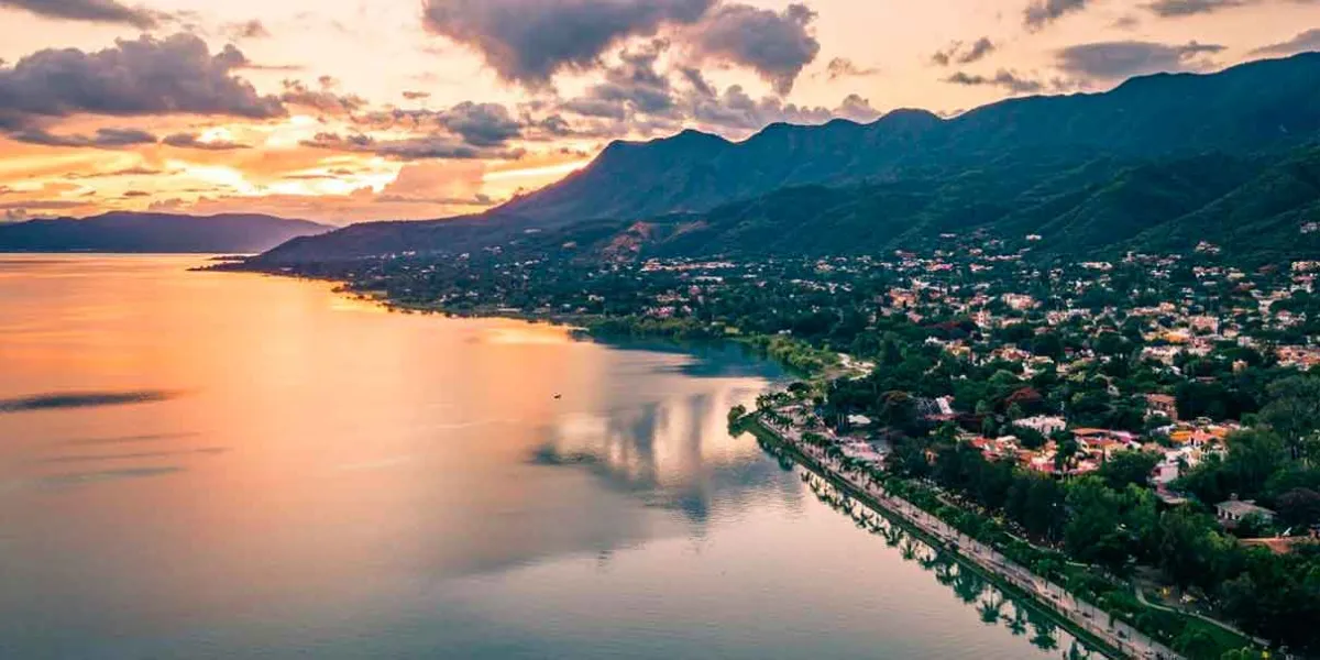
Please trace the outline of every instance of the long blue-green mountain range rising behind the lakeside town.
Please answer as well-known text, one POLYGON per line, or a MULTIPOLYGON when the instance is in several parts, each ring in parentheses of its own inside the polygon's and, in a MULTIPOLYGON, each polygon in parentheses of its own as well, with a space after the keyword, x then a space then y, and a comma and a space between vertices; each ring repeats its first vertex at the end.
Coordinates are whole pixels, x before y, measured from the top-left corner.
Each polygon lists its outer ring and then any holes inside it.
POLYGON ((550 246, 570 235, 578 246, 638 243, 611 231, 657 218, 640 243, 686 253, 878 247, 970 227, 1101 248, 1267 176, 1272 161, 1258 154, 1278 160, 1320 144, 1316 81, 1320 53, 1308 53, 1137 78, 1105 94, 1012 99, 953 119, 907 110, 866 125, 776 124, 743 143, 694 131, 615 143, 586 169, 488 214, 359 224, 294 240, 261 263, 550 246), (664 226, 681 231, 665 238, 664 226))

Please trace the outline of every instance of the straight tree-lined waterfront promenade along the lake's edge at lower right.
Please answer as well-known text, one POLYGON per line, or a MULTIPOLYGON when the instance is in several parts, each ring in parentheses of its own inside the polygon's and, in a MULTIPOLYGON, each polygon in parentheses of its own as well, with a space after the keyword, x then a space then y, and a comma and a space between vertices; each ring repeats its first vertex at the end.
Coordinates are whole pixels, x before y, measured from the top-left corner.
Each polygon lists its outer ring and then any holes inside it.
POLYGON ((1073 597, 1064 587, 1015 564, 994 548, 958 532, 912 503, 891 495, 879 484, 869 483, 841 462, 825 455, 824 450, 803 442, 797 429, 779 430, 768 424, 760 424, 760 428, 770 432, 784 445, 792 447, 801 458, 805 458, 807 467, 822 473, 822 477, 842 482, 849 490, 862 495, 858 499, 876 508, 878 513, 903 519, 909 525, 944 544, 948 549, 957 552, 962 558, 981 568, 981 570, 997 576, 1049 607, 1077 628, 1100 639, 1111 647, 1111 649, 1122 653, 1121 657, 1183 660, 1181 655, 1167 645, 1121 620, 1113 619, 1104 610, 1073 597))

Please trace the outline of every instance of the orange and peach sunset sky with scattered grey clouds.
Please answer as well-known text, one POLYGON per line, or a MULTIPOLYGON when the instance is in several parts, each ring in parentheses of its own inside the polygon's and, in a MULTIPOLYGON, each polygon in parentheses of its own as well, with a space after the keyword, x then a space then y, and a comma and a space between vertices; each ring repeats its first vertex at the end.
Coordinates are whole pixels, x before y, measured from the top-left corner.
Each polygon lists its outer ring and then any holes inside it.
POLYGON ((0 0, 0 222, 475 213, 615 139, 1320 49, 1320 0, 0 0))

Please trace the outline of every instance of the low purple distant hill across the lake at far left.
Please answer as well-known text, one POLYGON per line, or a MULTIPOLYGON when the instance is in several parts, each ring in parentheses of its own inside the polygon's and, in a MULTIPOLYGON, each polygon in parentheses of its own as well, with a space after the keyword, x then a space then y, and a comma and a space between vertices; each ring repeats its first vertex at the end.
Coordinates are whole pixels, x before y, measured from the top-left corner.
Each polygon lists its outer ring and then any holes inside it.
POLYGON ((264 252, 334 230, 271 215, 108 213, 0 224, 0 252, 264 252))

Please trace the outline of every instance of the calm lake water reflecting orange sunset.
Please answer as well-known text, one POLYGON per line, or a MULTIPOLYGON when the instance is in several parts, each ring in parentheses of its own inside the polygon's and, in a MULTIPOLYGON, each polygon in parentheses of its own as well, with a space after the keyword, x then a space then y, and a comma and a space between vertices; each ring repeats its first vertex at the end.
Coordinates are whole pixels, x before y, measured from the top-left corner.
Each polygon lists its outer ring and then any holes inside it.
POLYGON ((730 437, 737 350, 199 263, 0 256, 0 657, 1080 651, 730 437))

